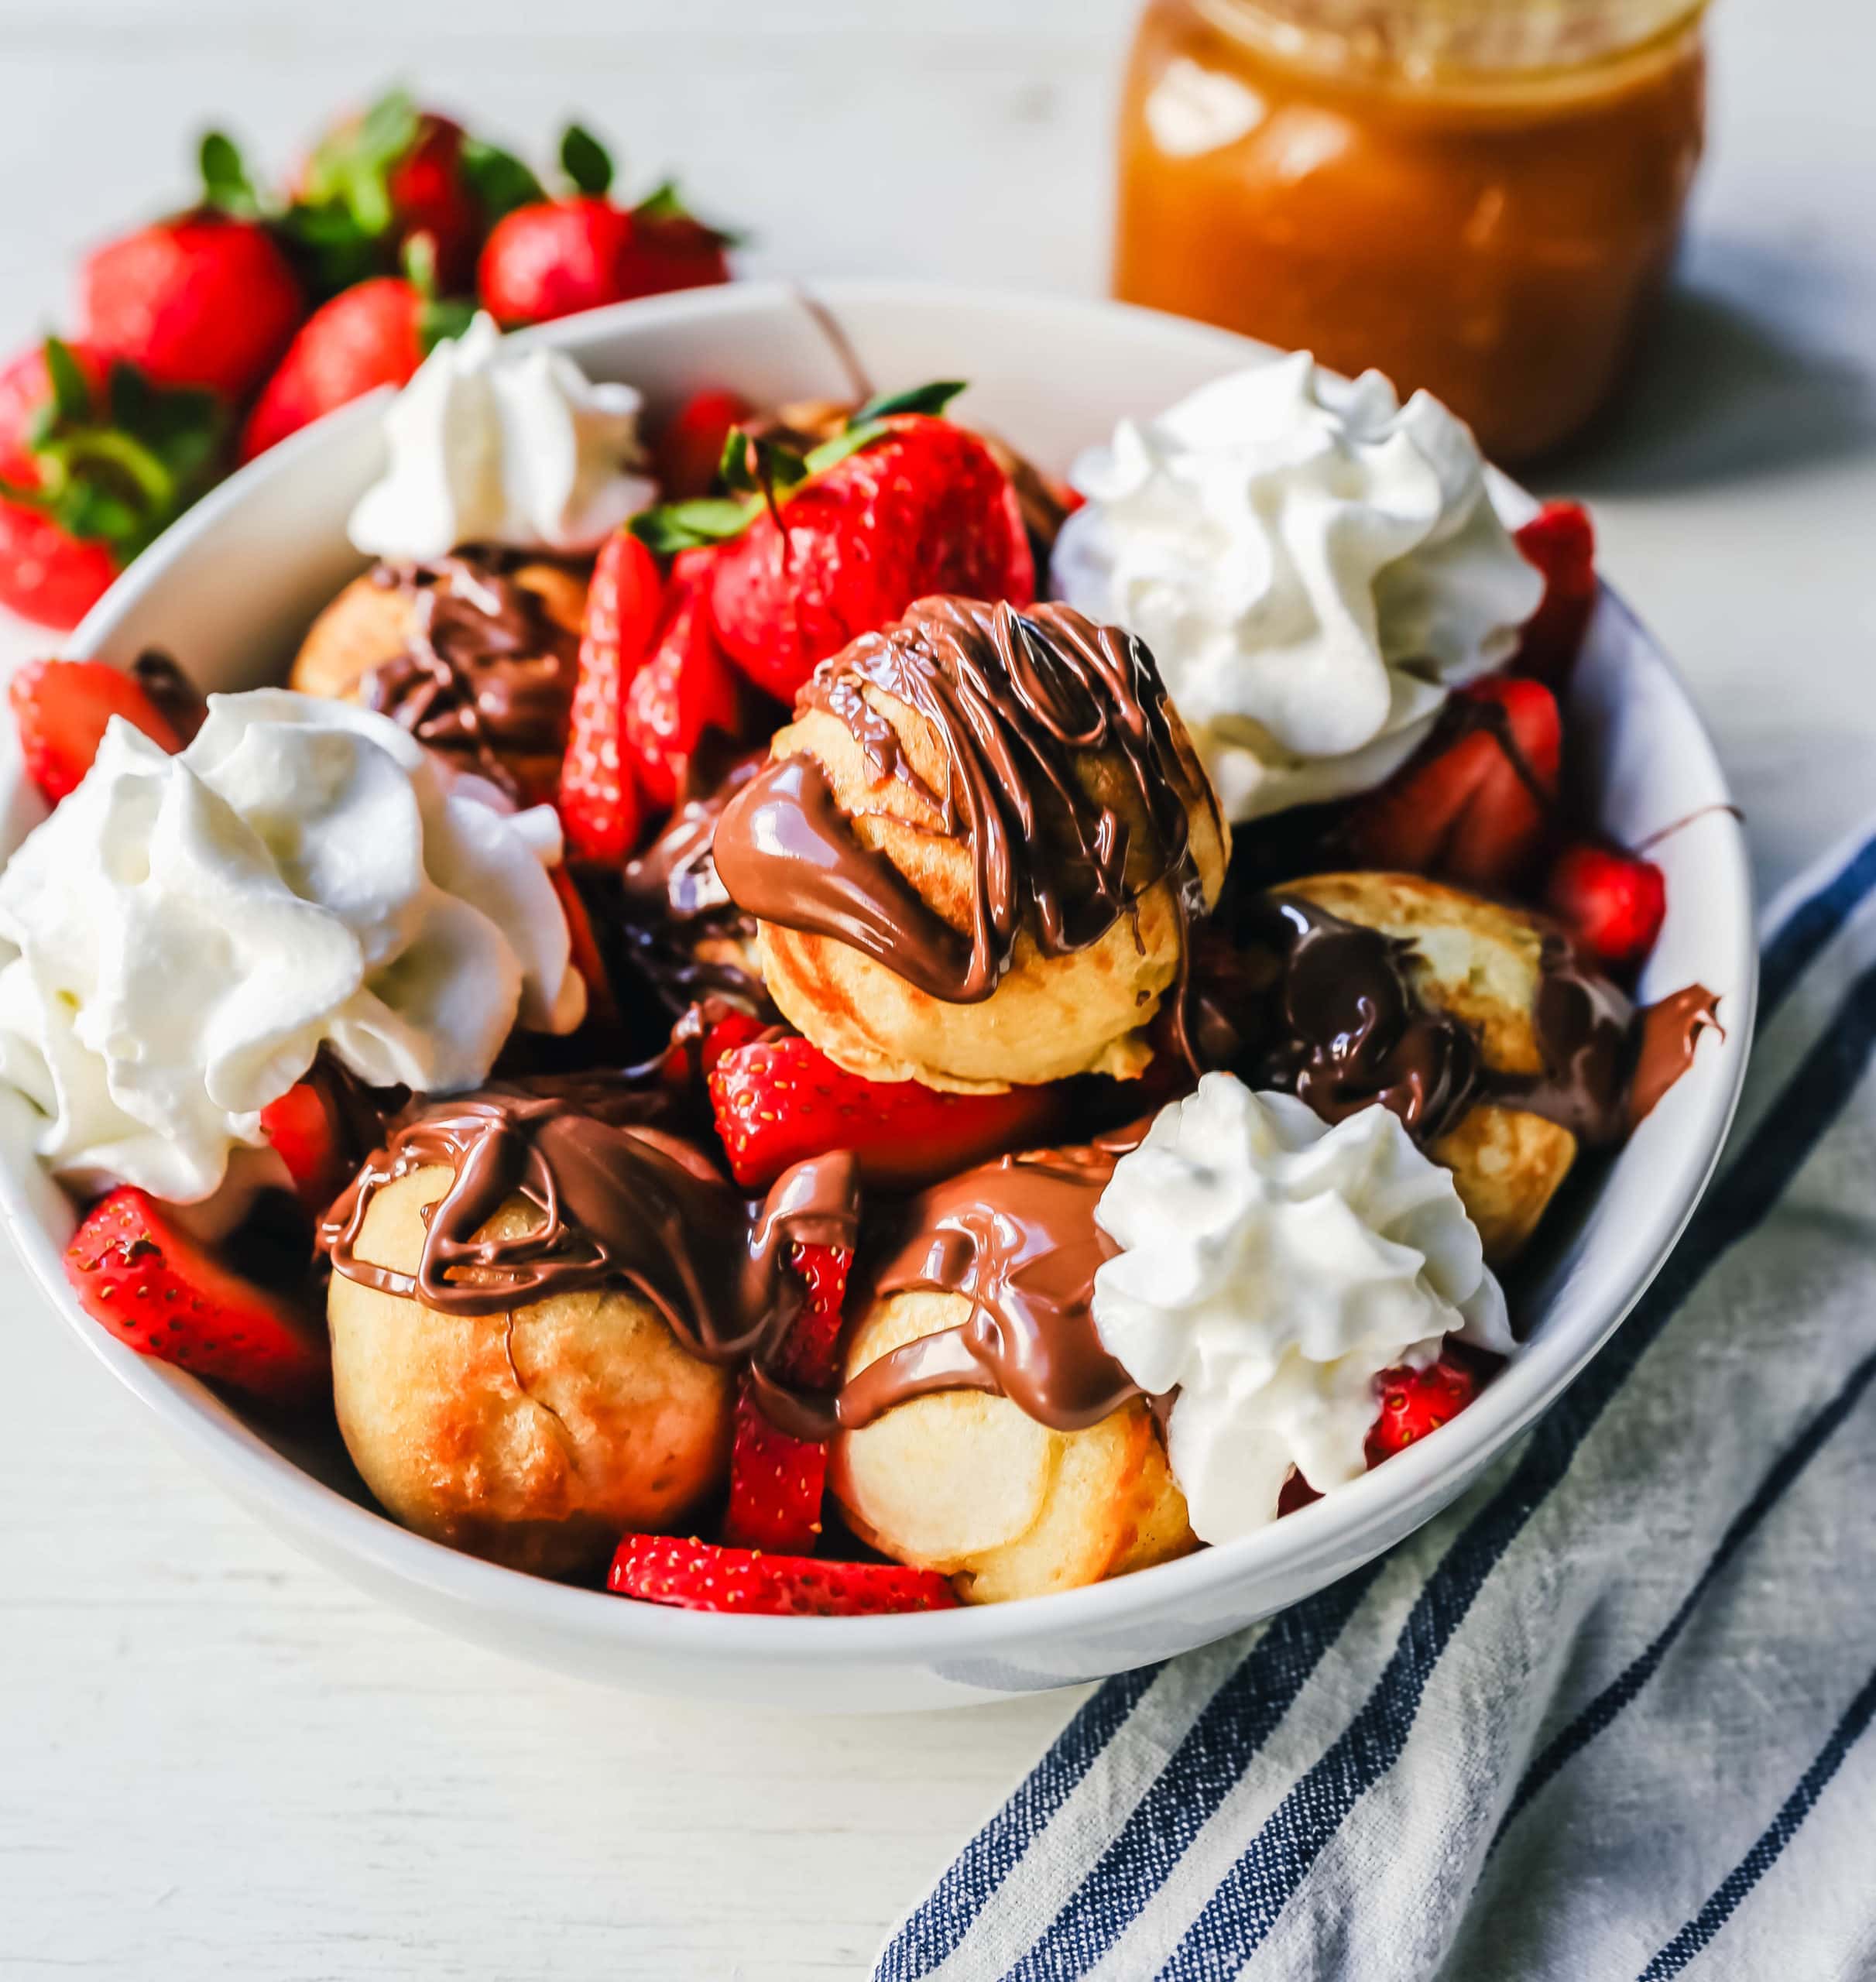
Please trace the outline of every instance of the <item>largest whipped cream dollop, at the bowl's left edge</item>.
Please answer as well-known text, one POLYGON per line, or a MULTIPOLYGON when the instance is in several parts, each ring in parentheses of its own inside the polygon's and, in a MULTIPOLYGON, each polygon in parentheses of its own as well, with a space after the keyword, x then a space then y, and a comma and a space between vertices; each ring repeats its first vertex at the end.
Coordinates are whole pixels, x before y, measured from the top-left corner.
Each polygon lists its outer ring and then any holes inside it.
POLYGON ((516 1023, 571 1031, 559 854, 551 807, 343 702, 210 696, 178 757, 113 719, 0 872, 0 1078, 79 1189, 194 1203, 321 1043, 450 1092, 516 1023))

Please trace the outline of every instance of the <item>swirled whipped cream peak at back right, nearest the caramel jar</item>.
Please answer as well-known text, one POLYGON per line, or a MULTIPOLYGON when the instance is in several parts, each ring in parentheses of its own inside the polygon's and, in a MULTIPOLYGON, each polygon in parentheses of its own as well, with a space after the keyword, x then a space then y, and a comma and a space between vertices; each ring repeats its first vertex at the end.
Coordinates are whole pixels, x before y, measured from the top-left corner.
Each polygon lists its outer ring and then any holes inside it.
POLYGON ((1543 597, 1469 428, 1301 351, 1122 420, 1071 480, 1055 591, 1152 648, 1233 821, 1378 785, 1543 597))

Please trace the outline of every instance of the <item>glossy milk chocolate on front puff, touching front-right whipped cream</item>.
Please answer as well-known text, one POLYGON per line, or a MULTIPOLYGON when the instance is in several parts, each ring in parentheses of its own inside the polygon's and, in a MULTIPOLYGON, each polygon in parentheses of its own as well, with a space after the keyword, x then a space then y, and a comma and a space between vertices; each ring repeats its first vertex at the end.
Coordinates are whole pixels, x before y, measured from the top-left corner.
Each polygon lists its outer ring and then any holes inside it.
POLYGON ((1089 1148, 1005 1156, 912 1199, 867 1286, 964 1294, 970 1318, 849 1377, 835 1423, 851 1431, 930 1391, 982 1389, 1081 1431, 1142 1395, 1101 1346, 1093 1292, 1095 1268, 1118 1253, 1095 1207, 1144 1134, 1138 1122, 1089 1148))

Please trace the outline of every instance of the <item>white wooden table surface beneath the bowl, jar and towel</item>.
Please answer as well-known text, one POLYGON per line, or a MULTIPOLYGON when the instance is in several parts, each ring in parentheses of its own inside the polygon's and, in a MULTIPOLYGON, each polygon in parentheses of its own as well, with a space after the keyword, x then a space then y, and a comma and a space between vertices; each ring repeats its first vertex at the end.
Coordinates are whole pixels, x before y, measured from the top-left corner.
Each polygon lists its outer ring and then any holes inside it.
MULTIPOLYGON (((0 335, 182 190, 202 121, 278 163, 393 75, 680 165, 760 270, 1095 291, 1130 12, 4 0, 0 335)), ((1775 884, 1876 803, 1876 36, 1860 0, 1721 0, 1717 44, 1670 337, 1553 480, 1694 678, 1775 884)), ((0 1976, 851 1976, 1073 1707, 797 1722, 508 1665, 222 1500, 10 1261, 0 1328, 0 1976)))

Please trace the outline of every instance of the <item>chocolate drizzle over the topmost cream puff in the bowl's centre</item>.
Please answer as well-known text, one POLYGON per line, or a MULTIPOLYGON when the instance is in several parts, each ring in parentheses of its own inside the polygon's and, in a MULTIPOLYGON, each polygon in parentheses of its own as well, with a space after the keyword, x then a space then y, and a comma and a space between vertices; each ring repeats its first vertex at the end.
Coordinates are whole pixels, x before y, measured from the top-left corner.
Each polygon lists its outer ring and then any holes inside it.
POLYGON ((1067 606, 1017 612, 924 599, 892 628, 823 662, 795 714, 825 710, 879 779, 898 779, 972 858, 968 930, 940 918, 861 844, 807 757, 760 771, 724 813, 716 858, 734 902, 763 922, 847 943, 948 1005, 992 997, 1027 932, 1043 955, 1099 941, 1170 880, 1204 912, 1192 813, 1216 799, 1176 735, 1146 648, 1067 606), (906 706, 944 755, 946 787, 916 771, 875 696, 906 706), (1111 765, 1146 830, 1085 781, 1111 765))

